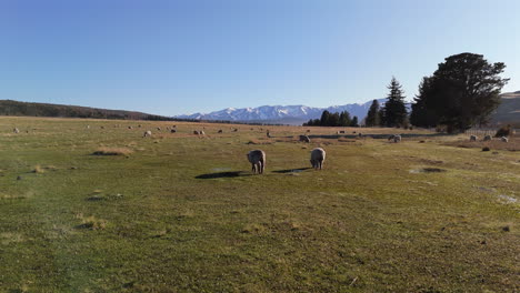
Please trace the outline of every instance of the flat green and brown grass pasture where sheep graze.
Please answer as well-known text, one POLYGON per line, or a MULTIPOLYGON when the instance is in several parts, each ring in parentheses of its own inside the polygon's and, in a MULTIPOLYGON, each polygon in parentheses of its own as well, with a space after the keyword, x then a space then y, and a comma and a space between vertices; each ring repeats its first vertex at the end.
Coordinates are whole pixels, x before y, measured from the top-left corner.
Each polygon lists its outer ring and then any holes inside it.
POLYGON ((0 292, 520 290, 519 152, 238 128, 0 118, 0 292))

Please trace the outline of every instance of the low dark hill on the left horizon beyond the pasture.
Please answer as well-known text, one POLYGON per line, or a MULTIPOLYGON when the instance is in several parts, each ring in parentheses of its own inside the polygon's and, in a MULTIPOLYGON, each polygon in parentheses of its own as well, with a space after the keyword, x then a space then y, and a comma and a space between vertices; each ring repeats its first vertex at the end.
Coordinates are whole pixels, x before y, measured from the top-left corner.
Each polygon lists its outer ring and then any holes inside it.
POLYGON ((0 115, 96 118, 126 120, 173 120, 172 118, 168 117, 153 115, 133 111, 108 110, 64 104, 29 103, 12 100, 0 100, 0 115))

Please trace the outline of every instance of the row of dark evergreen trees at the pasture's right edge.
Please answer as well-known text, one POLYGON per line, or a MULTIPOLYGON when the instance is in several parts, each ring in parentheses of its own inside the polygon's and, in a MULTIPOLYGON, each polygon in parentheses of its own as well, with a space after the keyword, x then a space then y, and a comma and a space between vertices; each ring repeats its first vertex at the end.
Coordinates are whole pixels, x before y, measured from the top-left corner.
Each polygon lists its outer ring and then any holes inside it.
MULTIPOLYGON (((481 54, 448 57, 432 75, 422 78, 410 113, 402 87, 392 78, 384 104, 372 101, 364 125, 408 128, 411 124, 440 128, 449 133, 484 125, 500 104, 500 92, 509 81, 500 77, 504 68, 504 63, 489 63, 481 54)), ((323 111, 321 119, 310 120, 306 125, 350 127, 342 122, 341 114, 323 111)))

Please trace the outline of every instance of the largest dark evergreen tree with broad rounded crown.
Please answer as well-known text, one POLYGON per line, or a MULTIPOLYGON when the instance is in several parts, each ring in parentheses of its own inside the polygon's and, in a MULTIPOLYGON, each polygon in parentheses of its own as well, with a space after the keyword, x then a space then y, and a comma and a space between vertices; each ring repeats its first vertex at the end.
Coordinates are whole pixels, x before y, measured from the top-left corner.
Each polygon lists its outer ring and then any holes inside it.
POLYGON ((417 103, 432 111, 448 132, 483 124, 499 105, 500 91, 509 81, 499 75, 504 68, 504 63, 491 64, 481 54, 448 57, 428 78, 427 91, 417 103))

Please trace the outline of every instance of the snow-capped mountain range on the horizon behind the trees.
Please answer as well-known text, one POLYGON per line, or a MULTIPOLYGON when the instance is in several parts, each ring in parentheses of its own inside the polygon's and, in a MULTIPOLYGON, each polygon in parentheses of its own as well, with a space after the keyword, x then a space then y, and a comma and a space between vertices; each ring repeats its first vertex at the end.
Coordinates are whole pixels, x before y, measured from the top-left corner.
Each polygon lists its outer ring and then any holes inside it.
MULTIPOLYGON (((386 99, 378 99, 380 104, 383 104, 386 99)), ((372 104, 372 101, 366 103, 351 103, 344 105, 332 105, 329 108, 314 108, 307 105, 262 105, 258 108, 228 108, 211 113, 194 113, 191 115, 178 115, 182 119, 194 120, 221 120, 221 121, 240 121, 240 122, 266 122, 266 123, 283 123, 283 124, 301 124, 309 119, 319 119, 324 110, 329 112, 348 111, 351 117, 358 117, 361 121, 367 115, 367 112, 372 104)))

